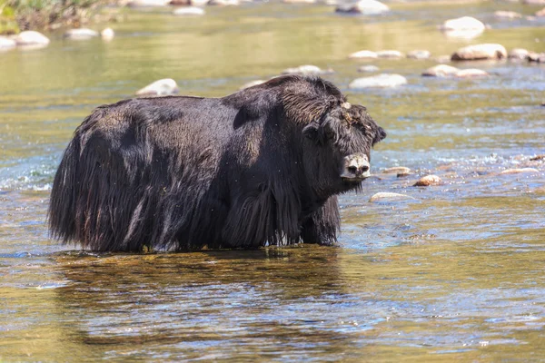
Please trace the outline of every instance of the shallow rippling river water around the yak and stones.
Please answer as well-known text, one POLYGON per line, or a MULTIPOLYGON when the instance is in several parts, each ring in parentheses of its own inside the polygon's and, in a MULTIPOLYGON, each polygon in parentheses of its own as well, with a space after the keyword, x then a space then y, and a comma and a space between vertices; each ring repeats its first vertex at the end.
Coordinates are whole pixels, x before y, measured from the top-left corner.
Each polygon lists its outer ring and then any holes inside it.
POLYGON ((539 361, 545 359, 545 66, 458 64, 486 79, 423 78, 433 60, 375 61, 397 89, 352 92, 362 49, 500 43, 545 51, 537 9, 392 4, 377 17, 325 5, 126 12, 116 37, 48 34, 0 54, 0 360, 539 361), (474 15, 492 29, 453 40, 436 26, 474 15), (342 196, 337 248, 95 255, 48 238, 55 168, 74 128, 103 103, 164 77, 221 96, 300 64, 365 104, 389 136, 359 194, 342 196), (413 174, 382 173, 393 166, 413 174), (500 174, 510 168, 537 172, 500 174), (413 187, 434 173, 444 183, 413 187), (406 201, 371 202, 379 191, 406 201))

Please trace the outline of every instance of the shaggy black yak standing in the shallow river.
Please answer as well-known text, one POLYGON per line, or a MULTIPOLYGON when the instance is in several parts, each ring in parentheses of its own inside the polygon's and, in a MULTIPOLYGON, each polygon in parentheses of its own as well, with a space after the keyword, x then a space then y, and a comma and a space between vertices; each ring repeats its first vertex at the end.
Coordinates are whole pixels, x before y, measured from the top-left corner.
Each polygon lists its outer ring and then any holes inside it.
POLYGON ((319 77, 100 106, 64 152, 49 226, 97 251, 332 244, 337 195, 361 188, 385 136, 319 77))

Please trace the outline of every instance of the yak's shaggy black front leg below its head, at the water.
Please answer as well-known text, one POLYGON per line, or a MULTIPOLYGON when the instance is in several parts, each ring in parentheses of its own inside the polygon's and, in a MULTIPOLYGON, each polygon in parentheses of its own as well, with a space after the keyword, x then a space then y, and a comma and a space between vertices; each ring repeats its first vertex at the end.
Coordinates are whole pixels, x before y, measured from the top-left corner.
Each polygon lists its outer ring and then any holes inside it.
POLYGON ((335 244, 340 227, 339 203, 337 196, 333 195, 302 223, 302 241, 322 245, 335 244))

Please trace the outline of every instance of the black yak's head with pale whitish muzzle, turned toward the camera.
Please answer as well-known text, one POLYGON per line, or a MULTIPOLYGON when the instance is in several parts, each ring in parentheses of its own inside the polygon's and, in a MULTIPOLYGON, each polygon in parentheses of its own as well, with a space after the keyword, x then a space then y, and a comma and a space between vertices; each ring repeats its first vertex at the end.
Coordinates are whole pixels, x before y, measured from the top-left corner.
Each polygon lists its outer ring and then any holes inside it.
POLYGON ((298 88, 284 98, 284 107, 301 125, 305 179, 322 197, 360 188, 371 176, 372 146, 386 132, 332 83, 315 78, 298 88))

